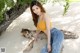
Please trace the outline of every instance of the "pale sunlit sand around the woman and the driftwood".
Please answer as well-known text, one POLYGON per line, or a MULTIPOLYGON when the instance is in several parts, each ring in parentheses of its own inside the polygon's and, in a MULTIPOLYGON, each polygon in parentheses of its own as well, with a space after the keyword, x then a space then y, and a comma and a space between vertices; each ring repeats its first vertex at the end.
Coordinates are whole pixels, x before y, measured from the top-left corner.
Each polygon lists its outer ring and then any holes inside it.
MULTIPOLYGON (((51 17, 53 27, 76 33, 80 36, 80 2, 70 3, 70 7, 65 16, 63 16, 63 5, 59 3, 47 3, 44 5, 46 11, 51 17)), ((22 53, 21 49, 27 42, 27 39, 21 36, 21 29, 28 28, 35 30, 30 9, 27 8, 23 14, 16 18, 10 26, 0 36, 0 48, 5 48, 6 53, 22 53)), ((46 39, 38 40, 30 52, 40 53, 41 48, 46 44, 46 39)), ((66 39, 63 42, 64 49, 62 53, 80 53, 80 38, 66 39)))

